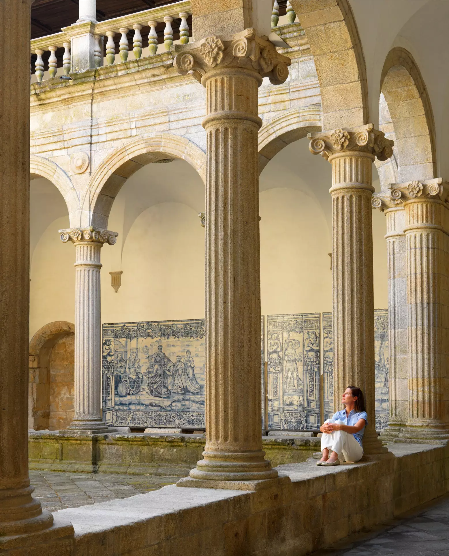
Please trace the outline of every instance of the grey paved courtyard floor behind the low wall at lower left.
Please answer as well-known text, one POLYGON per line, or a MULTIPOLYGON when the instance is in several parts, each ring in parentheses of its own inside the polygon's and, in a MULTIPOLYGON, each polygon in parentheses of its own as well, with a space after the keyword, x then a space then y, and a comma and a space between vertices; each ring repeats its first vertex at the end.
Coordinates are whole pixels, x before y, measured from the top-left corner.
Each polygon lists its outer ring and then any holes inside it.
POLYGON ((157 490, 176 483, 180 477, 30 470, 29 478, 34 486, 33 496, 42 508, 56 512, 157 490))

